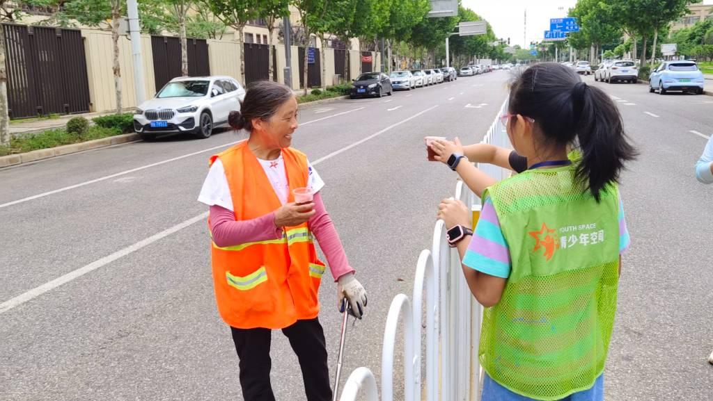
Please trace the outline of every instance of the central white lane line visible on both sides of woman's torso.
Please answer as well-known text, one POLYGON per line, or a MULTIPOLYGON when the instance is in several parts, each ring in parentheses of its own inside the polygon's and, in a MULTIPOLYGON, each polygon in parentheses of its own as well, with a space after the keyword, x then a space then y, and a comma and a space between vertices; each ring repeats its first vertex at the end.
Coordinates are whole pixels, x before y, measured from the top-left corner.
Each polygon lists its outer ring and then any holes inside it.
MULTIPOLYGON (((342 149, 337 150, 336 152, 332 152, 327 156, 320 157, 316 161, 312 162, 312 165, 318 165, 319 163, 324 162, 324 160, 329 160, 332 157, 337 156, 342 152, 346 152, 347 150, 352 149, 352 147, 359 146, 362 143, 364 143, 368 140, 371 140, 374 137, 377 137, 388 130, 391 130, 391 128, 397 127, 403 123, 406 123, 409 120, 413 120, 414 118, 419 117, 419 115, 422 115, 422 114, 427 113, 431 110, 434 110, 434 108, 437 108, 437 107, 438 107, 438 105, 431 106, 430 108, 427 108, 426 110, 421 111, 420 113, 416 113, 414 115, 411 115, 411 117, 409 117, 409 118, 399 121, 399 123, 389 125, 388 127, 384 128, 383 130, 380 130, 379 132, 376 132, 373 135, 369 135, 368 137, 365 137, 362 140, 354 142, 354 143, 352 143, 352 145, 342 147, 342 149)), ((26 291, 25 293, 21 293, 19 296, 10 298, 8 301, 0 303, 0 314, 5 313, 5 312, 11 310, 12 308, 15 308, 16 306, 20 306, 23 303, 31 301, 32 299, 37 298, 38 296, 41 296, 43 293, 51 291, 54 288, 57 288, 58 286, 61 286, 61 285, 66 284, 70 281, 73 281, 75 278, 79 278, 85 274, 90 273, 91 271, 95 271, 96 269, 101 268, 102 266, 106 266, 107 264, 110 264, 111 262, 116 261, 117 259, 120 259, 123 256, 132 254, 133 252, 138 251, 139 249, 142 249, 145 246, 153 244, 155 241, 163 239, 171 234, 175 234, 176 232, 178 232, 182 229, 185 229, 186 227, 188 227, 192 224, 195 224, 197 222, 205 222, 205 219, 207 217, 208 217, 208 212, 201 213, 196 217, 192 217, 188 220, 185 220, 185 222, 181 222, 179 224, 176 224, 173 227, 170 227, 170 229, 166 229, 164 231, 161 231, 158 234, 154 234, 153 236, 150 236, 146 239, 138 241, 137 243, 127 246, 124 249, 120 249, 119 251, 116 251, 111 255, 105 256, 97 261, 93 261, 91 264, 88 264, 88 265, 83 266, 79 269, 71 271, 68 274, 65 274, 63 276, 55 278, 52 281, 48 281, 47 283, 44 283, 41 286, 38 286, 38 287, 33 288, 29 291, 26 291)))

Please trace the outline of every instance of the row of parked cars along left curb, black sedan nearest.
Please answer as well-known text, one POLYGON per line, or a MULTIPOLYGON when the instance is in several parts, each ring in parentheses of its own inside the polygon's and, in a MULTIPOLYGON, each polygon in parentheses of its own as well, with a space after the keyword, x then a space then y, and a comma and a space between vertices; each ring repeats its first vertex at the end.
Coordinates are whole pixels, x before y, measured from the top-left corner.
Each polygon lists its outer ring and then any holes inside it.
POLYGON ((363 73, 354 80, 349 98, 381 98, 384 95, 390 96, 394 90, 414 90, 456 79, 458 76, 453 67, 394 71, 391 75, 363 73))

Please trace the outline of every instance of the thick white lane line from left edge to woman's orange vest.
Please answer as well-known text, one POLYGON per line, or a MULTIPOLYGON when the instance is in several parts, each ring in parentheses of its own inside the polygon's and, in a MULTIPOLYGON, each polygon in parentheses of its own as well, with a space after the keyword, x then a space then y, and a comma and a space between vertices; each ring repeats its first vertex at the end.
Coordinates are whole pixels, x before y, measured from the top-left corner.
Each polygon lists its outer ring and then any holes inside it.
POLYGON ((111 262, 116 261, 116 259, 120 259, 123 256, 131 254, 135 251, 138 251, 139 249, 141 249, 145 246, 153 244, 155 241, 158 241, 159 239, 163 239, 163 238, 169 236, 170 234, 180 231, 181 229, 185 229, 185 227, 188 227, 193 223, 205 221, 205 219, 207 217, 208 217, 208 212, 199 214, 198 216, 188 219, 185 222, 176 224, 175 226, 171 227, 170 229, 166 229, 164 231, 161 231, 158 234, 148 237, 147 239, 138 241, 137 243, 127 246, 124 249, 121 249, 120 251, 116 251, 109 256, 104 256, 103 258, 99 259, 98 261, 93 261, 91 264, 88 264, 88 265, 83 266, 79 269, 76 269, 75 271, 71 271, 68 274, 65 274, 64 276, 55 278, 54 280, 48 281, 47 283, 44 283, 39 287, 33 288, 30 291, 27 291, 25 293, 20 294, 19 296, 9 299, 8 301, 0 303, 0 314, 5 313, 5 312, 9 311, 10 309, 15 308, 16 306, 20 306, 23 303, 26 303, 27 301, 31 301, 33 298, 37 298, 38 296, 41 296, 43 293, 51 291, 54 288, 61 286, 62 284, 66 284, 66 283, 74 280, 75 278, 79 278, 91 271, 99 269, 102 266, 106 266, 107 264, 110 264, 111 262))

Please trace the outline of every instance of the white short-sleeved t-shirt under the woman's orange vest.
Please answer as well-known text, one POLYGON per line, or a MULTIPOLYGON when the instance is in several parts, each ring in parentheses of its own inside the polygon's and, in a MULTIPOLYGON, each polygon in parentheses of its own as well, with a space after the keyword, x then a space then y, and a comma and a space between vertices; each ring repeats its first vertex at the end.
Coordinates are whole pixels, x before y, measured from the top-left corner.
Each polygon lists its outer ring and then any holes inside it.
MULTIPOLYGON (((286 204, 289 184, 287 184, 287 172, 284 170, 282 155, 279 155, 277 160, 258 159, 257 161, 260 162, 262 170, 265 170, 265 175, 267 175, 267 179, 270 180, 272 189, 275 189, 275 194, 277 194, 279 202, 286 204)), ((322 181, 322 177, 319 177, 317 170, 314 170, 309 160, 307 160, 307 169, 309 170, 307 186, 312 187, 314 192, 317 193, 324 187, 324 181, 322 181)), ((230 196, 230 187, 228 187, 227 177, 225 177, 225 168, 222 162, 220 162, 220 159, 216 159, 213 165, 210 166, 208 175, 205 177, 205 182, 203 182, 203 187, 200 189, 198 202, 205 203, 208 206, 217 204, 231 212, 235 211, 235 209, 233 209, 232 197, 230 196)))

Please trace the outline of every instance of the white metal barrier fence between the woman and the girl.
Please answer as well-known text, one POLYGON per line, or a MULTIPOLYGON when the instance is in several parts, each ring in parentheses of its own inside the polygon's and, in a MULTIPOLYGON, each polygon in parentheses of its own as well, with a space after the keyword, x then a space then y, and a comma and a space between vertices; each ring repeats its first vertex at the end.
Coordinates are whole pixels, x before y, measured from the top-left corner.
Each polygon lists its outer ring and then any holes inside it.
MULTIPOLYGON (((508 112, 506 100, 488 129, 483 143, 509 147, 510 141, 500 116, 508 112)), ((508 170, 493 165, 478 165, 495 179, 508 177, 508 170)), ((473 211, 473 224, 481 209, 481 199, 458 180, 455 199, 473 211)), ((416 264, 412 298, 399 294, 391 302, 381 349, 381 400, 394 400, 394 348, 399 318, 404 322, 404 400, 421 401, 421 321, 426 286, 426 400, 477 401, 483 379, 478 363, 478 344, 483 308, 476 302, 461 272, 456 249, 448 247, 446 227, 438 220, 432 249, 421 251, 416 264), (438 361, 440 355, 440 363, 438 361), (438 371, 440 368, 440 377, 438 371)), ((349 375, 341 401, 378 401, 379 389, 368 368, 349 375)))

